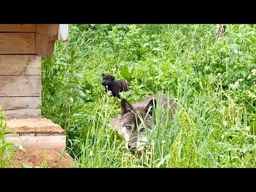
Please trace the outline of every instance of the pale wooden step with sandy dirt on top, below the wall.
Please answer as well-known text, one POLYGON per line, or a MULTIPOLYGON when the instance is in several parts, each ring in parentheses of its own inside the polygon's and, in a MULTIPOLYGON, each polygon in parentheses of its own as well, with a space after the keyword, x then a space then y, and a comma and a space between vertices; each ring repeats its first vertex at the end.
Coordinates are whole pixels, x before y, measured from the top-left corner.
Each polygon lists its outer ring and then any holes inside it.
POLYGON ((29 146, 37 149, 53 149, 61 153, 66 147, 65 131, 51 119, 41 117, 7 119, 5 130, 7 142, 19 143, 25 149, 29 146), (19 137, 8 132, 9 130, 17 133, 19 137))

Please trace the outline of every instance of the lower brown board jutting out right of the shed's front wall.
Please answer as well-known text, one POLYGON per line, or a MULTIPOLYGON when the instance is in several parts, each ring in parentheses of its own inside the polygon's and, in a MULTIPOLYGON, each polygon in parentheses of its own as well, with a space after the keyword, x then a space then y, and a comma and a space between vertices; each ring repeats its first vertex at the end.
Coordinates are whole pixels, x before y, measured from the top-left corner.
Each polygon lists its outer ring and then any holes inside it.
POLYGON ((36 33, 36 54, 51 58, 55 39, 36 33))

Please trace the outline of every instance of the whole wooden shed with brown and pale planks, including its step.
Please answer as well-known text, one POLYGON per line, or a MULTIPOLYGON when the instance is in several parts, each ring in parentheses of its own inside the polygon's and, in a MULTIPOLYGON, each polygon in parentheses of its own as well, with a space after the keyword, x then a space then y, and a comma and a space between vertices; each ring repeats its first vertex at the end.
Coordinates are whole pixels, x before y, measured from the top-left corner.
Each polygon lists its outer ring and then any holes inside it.
MULTIPOLYGON (((41 104, 41 58, 52 57, 55 41, 67 38, 68 24, 0 24, 0 106, 7 117, 6 128, 30 146, 51 149, 61 142, 55 149, 66 147, 65 132, 50 119, 41 118, 37 107, 41 104)), ((9 136, 9 141, 21 142, 9 136)))

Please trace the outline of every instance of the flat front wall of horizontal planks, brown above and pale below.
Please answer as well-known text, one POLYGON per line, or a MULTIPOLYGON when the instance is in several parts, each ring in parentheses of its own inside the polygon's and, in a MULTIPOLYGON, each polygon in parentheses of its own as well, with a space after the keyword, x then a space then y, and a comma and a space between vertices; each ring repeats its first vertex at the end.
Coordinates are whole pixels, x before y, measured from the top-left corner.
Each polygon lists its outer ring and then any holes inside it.
POLYGON ((36 24, 0 25, 0 106, 6 116, 41 116, 36 24))

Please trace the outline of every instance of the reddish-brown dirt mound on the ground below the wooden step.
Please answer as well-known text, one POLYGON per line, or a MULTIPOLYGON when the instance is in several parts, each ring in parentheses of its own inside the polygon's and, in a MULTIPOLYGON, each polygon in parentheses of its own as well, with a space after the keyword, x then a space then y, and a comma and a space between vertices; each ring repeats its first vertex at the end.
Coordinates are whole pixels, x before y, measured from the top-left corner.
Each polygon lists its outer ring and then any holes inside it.
MULTIPOLYGON (((61 156, 55 150, 46 149, 47 167, 48 168, 74 168, 75 161, 68 154, 61 156)), ((44 162, 44 149, 29 148, 26 152, 15 149, 13 157, 12 168, 19 168, 22 164, 27 166, 42 166, 44 162)))

